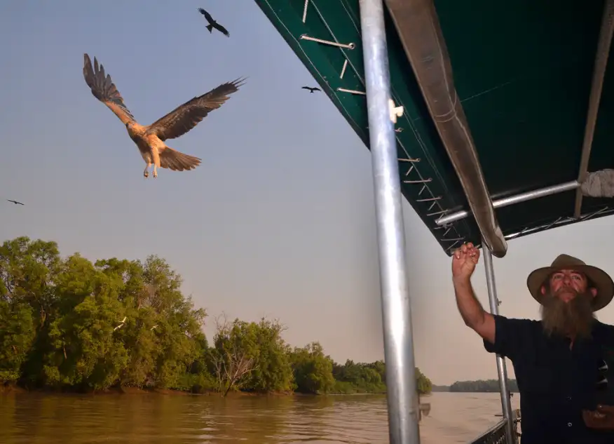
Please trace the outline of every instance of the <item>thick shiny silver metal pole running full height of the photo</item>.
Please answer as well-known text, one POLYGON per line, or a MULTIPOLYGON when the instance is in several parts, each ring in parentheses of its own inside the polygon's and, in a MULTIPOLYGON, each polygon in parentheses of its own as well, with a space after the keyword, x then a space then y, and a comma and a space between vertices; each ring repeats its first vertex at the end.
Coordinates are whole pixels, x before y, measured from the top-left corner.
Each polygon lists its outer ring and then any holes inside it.
POLYGON ((390 443, 419 444, 418 392, 383 0, 360 0, 379 253, 390 443))

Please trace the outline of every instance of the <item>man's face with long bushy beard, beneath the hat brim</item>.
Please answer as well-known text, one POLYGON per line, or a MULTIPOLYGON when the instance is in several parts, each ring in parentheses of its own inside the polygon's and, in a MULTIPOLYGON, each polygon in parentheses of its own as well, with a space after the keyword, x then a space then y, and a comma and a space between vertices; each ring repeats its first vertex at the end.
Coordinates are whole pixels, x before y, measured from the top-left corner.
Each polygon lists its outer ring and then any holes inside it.
POLYGON ((592 300, 596 295, 589 288, 586 276, 575 270, 560 270, 550 276, 541 288, 542 321, 548 334, 590 335, 594 319, 592 300))

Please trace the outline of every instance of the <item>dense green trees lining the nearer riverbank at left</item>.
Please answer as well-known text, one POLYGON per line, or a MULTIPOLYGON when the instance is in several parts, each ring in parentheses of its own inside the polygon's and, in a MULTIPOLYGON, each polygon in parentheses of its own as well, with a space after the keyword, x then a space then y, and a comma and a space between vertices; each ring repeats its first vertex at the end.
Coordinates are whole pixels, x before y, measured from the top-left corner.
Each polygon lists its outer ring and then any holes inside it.
MULTIPOLYGON (((91 262, 22 236, 0 246, 0 390, 271 396, 386 393, 383 361, 291 347, 278 320, 214 319, 156 255, 91 262)), ((418 392, 432 384, 416 368, 418 392)))

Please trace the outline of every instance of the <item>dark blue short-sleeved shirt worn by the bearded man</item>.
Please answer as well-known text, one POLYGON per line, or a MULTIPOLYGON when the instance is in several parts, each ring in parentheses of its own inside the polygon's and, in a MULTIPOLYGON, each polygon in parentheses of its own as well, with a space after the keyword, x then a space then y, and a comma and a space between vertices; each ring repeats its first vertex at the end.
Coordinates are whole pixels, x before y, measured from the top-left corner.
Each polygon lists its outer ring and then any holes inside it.
POLYGON ((589 429, 582 409, 614 405, 614 327, 594 322, 590 339, 543 331, 541 321, 495 316, 491 353, 510 358, 520 391, 521 444, 606 444, 614 433, 589 429), (609 367, 608 367, 609 363, 609 367), (607 383, 609 377, 609 384, 607 383))

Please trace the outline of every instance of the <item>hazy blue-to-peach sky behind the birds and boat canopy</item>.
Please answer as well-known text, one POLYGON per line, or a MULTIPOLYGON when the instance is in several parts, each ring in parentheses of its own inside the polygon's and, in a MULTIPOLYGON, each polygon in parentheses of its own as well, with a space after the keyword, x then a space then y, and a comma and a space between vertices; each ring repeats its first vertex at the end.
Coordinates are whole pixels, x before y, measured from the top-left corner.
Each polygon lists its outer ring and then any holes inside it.
MULTIPOLYGON (((0 241, 53 240, 92 260, 156 253, 211 316, 276 317, 290 344, 318 340, 339 362, 383 358, 369 151, 324 94, 301 90, 313 77, 253 1, 178 5, 0 4, 0 241), (201 6, 229 39, 207 32, 201 6), (249 78, 168 141, 203 159, 196 170, 145 180, 123 124, 83 80, 86 52, 143 124, 249 78)), ((495 378, 494 355, 456 310, 450 258, 406 201, 404 221, 417 365, 435 384, 495 378)), ((539 316, 526 276, 559 253, 614 272, 613 222, 510 241, 495 260, 501 314, 539 316)), ((482 262, 473 282, 487 307, 482 262)), ((598 316, 614 323, 614 304, 598 316)))

